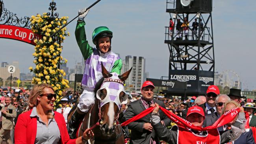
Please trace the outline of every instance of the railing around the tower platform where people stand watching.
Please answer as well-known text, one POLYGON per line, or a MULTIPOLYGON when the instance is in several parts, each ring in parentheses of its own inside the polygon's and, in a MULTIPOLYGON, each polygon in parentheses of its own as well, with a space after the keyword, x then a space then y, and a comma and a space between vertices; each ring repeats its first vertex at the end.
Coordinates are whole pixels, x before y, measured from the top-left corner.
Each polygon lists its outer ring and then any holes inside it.
MULTIPOLYGON (((189 26, 189 28, 190 29, 188 30, 188 33, 187 33, 187 39, 185 39, 186 37, 185 37, 185 33, 184 33, 183 30, 178 32, 176 30, 176 28, 174 28, 172 33, 171 33, 171 30, 169 29, 169 27, 166 26, 165 27, 165 40, 171 41, 173 39, 173 40, 195 40, 195 41, 198 41, 199 30, 197 30, 197 34, 193 35, 193 32, 191 31, 193 27, 189 26), (193 35, 194 39, 193 39, 192 35, 193 35)), ((208 33, 208 31, 210 31, 209 27, 206 27, 203 31, 200 31, 200 33, 202 33, 202 36, 200 38, 201 41, 211 42, 210 41, 210 34, 208 33)))

